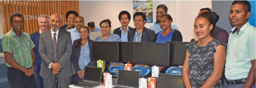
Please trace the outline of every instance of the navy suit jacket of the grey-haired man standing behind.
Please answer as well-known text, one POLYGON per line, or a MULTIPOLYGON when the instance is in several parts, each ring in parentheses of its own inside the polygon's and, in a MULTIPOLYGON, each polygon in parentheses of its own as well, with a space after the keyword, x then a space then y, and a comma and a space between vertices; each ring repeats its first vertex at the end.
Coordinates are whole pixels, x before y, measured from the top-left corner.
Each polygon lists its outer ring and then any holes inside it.
MULTIPOLYGON (((42 61, 39 57, 39 40, 40 40, 40 33, 39 31, 35 32, 35 33, 32 33, 30 34, 30 38, 31 40, 33 41, 33 43, 35 44, 35 47, 33 48, 34 49, 34 53, 35 53, 35 65, 41 65, 42 61)), ((40 68, 35 68, 35 73, 39 73, 40 72, 40 68)))

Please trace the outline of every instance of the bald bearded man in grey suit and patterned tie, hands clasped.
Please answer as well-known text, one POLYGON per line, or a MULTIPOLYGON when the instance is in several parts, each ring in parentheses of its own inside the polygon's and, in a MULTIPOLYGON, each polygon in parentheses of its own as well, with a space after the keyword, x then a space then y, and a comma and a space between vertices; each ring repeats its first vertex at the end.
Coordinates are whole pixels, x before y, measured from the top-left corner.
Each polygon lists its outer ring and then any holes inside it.
POLYGON ((72 42, 70 32, 59 30, 61 17, 53 14, 50 17, 51 30, 41 33, 39 54, 42 59, 40 76, 45 88, 69 88, 72 75, 75 74, 70 56, 72 42))

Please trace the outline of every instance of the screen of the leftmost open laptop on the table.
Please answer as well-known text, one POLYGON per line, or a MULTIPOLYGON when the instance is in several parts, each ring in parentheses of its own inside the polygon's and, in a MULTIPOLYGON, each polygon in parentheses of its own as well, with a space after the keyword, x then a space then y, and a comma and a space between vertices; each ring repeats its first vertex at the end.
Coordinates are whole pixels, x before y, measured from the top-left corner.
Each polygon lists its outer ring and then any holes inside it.
POLYGON ((85 66, 85 74, 83 80, 101 82, 102 68, 85 66))

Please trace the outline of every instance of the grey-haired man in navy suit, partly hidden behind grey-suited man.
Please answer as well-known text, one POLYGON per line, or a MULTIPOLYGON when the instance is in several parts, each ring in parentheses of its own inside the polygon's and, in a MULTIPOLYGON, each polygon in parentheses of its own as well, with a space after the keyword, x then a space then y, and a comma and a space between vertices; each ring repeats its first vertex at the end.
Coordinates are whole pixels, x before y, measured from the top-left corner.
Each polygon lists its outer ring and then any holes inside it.
POLYGON ((41 59, 39 57, 39 39, 40 39, 40 34, 47 31, 49 27, 49 16, 48 15, 40 15, 38 17, 38 24, 40 26, 40 30, 30 34, 30 38, 35 44, 34 53, 35 53, 35 81, 37 82, 37 88, 43 88, 43 78, 39 75, 40 69, 41 69, 41 59))

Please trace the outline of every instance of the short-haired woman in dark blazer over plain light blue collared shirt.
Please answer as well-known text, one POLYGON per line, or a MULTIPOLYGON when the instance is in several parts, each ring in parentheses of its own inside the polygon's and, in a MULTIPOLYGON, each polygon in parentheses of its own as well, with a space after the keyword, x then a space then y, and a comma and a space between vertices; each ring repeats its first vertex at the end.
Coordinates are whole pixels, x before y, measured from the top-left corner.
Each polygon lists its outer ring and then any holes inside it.
POLYGON ((128 42, 128 33, 133 30, 133 28, 128 26, 131 20, 131 15, 128 11, 121 11, 118 18, 122 26, 115 29, 114 34, 119 35, 122 41, 128 42))

